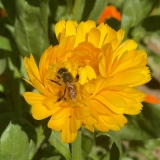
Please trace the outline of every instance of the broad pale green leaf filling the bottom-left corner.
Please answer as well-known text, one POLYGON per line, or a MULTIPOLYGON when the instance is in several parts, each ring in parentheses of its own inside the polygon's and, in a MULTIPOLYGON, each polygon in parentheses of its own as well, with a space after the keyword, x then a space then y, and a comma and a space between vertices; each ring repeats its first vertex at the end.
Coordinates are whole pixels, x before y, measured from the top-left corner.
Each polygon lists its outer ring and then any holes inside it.
POLYGON ((10 123, 0 139, 0 159, 28 160, 29 140, 19 125, 10 123))

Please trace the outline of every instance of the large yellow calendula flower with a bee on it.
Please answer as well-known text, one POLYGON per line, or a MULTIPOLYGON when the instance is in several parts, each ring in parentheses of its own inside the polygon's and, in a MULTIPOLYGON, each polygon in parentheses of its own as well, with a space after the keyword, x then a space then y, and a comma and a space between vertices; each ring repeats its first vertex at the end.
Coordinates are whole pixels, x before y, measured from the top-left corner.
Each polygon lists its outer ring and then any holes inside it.
POLYGON ((119 130, 124 114, 140 113, 145 94, 135 87, 151 79, 147 55, 133 40, 122 42, 122 29, 62 20, 55 32, 59 44, 44 51, 39 67, 32 55, 24 59, 26 81, 39 91, 24 93, 35 119, 51 116, 48 127, 70 143, 82 126, 119 130))

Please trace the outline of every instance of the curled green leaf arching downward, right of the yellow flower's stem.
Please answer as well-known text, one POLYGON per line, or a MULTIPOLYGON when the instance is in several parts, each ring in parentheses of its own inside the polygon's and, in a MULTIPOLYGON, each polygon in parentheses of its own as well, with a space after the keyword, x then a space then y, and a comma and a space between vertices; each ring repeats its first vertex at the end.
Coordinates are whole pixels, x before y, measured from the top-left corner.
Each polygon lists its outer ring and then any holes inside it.
MULTIPOLYGON (((110 150, 110 160, 120 159, 120 157, 122 155, 122 146, 121 146, 121 141, 120 141, 119 135, 116 132, 109 131, 109 132, 99 132, 97 134, 97 137, 101 136, 101 135, 105 135, 105 136, 110 137, 112 139, 112 141, 114 142, 112 145, 112 148, 110 150), (114 153, 114 154, 112 154, 112 153, 114 153), (116 155, 115 155, 115 153, 116 153, 116 155), (118 157, 118 159, 117 159, 117 157, 118 157)), ((105 158, 107 159, 108 155, 105 158)))

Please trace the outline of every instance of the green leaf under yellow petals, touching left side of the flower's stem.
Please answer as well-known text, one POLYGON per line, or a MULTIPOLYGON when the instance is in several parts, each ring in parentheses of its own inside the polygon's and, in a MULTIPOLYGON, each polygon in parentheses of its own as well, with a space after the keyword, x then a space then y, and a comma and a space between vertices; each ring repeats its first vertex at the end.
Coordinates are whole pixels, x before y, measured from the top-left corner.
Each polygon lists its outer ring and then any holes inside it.
POLYGON ((71 159, 69 145, 62 142, 60 132, 52 130, 49 142, 65 157, 66 160, 71 159))

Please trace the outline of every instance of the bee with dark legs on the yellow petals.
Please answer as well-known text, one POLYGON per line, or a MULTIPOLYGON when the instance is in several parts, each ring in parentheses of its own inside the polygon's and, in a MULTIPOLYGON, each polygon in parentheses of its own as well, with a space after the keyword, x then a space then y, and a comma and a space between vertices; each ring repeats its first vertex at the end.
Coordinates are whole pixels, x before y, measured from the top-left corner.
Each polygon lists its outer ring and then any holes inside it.
POLYGON ((73 75, 68 71, 66 68, 60 68, 57 72, 57 78, 59 81, 51 80, 51 82, 54 82, 58 85, 62 85, 60 82, 62 82, 65 85, 64 93, 61 97, 57 99, 56 102, 60 102, 61 100, 65 99, 66 90, 68 91, 68 96, 71 100, 75 101, 75 98, 77 96, 77 86, 75 82, 78 82, 79 80, 79 74, 76 74, 76 77, 74 78, 73 75))

